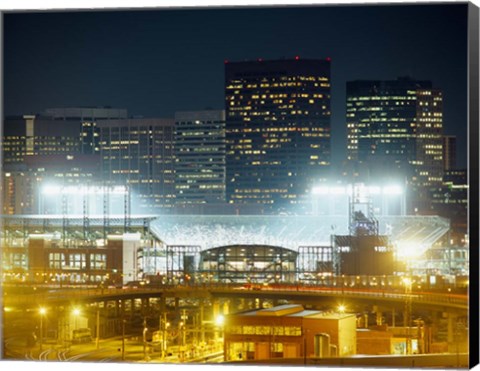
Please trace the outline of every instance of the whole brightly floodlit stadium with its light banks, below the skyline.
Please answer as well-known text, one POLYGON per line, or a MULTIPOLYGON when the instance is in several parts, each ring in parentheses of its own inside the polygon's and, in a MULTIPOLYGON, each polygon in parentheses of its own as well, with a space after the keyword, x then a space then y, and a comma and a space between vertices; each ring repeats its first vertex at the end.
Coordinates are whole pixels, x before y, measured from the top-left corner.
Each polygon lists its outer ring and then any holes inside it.
POLYGON ((449 220, 404 215, 397 188, 319 188, 309 215, 131 215, 126 192, 115 202, 124 213, 111 215, 107 196, 82 194, 83 214, 57 205, 62 214, 2 217, 6 281, 346 285, 405 275, 455 282, 468 272, 449 220), (101 205, 103 215, 91 213, 101 205))

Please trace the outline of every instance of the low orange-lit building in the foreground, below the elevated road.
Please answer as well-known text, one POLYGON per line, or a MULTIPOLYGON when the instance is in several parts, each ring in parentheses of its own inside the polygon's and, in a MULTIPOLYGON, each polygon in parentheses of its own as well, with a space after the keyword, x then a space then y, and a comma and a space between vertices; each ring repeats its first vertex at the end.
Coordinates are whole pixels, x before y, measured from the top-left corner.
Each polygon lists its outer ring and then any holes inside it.
POLYGON ((225 361, 351 356, 354 314, 286 304, 230 314, 224 326, 225 361))

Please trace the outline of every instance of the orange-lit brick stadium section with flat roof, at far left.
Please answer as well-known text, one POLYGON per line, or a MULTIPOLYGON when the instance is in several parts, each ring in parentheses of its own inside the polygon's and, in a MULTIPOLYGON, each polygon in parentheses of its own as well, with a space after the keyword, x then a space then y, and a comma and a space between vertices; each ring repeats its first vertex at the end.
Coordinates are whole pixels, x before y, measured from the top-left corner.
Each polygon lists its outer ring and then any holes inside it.
POLYGON ((1 221, 5 282, 125 284, 142 274, 144 250, 153 243, 144 230, 148 217, 3 216, 1 221))

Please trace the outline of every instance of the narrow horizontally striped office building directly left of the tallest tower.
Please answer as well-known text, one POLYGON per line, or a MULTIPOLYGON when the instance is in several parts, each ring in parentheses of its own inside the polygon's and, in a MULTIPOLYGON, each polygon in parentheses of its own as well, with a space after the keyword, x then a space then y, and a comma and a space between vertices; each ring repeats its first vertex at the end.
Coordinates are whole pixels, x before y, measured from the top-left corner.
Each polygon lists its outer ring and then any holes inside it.
POLYGON ((225 202, 225 111, 175 113, 176 205, 225 202))

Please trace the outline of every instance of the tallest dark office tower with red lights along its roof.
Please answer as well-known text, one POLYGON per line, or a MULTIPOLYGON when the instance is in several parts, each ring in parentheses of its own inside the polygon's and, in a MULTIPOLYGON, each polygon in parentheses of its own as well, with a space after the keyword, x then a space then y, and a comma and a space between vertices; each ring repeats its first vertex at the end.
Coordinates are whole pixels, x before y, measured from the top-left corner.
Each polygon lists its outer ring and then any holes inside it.
POLYGON ((227 200, 279 211, 330 165, 330 60, 226 62, 227 200))

